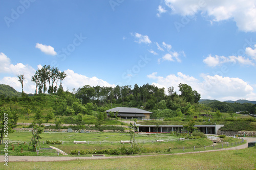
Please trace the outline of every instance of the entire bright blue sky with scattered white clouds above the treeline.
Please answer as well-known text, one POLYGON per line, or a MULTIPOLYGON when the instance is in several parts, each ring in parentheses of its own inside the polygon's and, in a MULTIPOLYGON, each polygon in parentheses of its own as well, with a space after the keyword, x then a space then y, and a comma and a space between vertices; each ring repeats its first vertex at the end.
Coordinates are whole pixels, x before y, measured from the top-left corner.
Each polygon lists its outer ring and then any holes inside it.
POLYGON ((186 83, 201 99, 256 100, 256 1, 0 0, 0 84, 44 65, 72 91, 186 83))

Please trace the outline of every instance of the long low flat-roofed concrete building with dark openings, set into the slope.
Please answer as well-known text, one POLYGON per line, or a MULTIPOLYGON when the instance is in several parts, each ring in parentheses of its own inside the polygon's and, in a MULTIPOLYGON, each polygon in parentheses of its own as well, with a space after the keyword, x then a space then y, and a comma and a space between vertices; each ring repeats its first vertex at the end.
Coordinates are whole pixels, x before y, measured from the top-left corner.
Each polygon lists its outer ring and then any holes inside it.
MULTIPOLYGON (((182 125, 136 125, 138 132, 159 132, 159 133, 170 133, 179 130, 179 133, 186 132, 182 125)), ((200 132, 205 134, 217 134, 218 130, 224 125, 195 125, 200 132)))

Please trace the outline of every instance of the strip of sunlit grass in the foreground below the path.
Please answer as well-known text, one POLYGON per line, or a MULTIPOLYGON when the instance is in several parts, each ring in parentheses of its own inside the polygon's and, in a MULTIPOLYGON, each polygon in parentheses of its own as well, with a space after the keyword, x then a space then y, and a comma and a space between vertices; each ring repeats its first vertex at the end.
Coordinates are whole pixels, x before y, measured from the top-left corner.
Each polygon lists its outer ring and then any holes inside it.
POLYGON ((243 150, 159 155, 62 162, 9 162, 8 169, 253 169, 256 148, 243 150))

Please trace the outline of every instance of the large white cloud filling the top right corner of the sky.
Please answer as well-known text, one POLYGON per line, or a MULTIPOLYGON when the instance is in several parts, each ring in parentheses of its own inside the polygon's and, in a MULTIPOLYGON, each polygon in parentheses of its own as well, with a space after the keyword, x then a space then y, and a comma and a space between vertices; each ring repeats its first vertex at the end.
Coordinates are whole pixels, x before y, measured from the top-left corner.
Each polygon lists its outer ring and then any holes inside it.
POLYGON ((165 0, 165 5, 172 13, 182 16, 193 16, 200 13, 210 21, 231 19, 237 23, 239 30, 244 32, 256 31, 256 2, 255 0, 165 0))

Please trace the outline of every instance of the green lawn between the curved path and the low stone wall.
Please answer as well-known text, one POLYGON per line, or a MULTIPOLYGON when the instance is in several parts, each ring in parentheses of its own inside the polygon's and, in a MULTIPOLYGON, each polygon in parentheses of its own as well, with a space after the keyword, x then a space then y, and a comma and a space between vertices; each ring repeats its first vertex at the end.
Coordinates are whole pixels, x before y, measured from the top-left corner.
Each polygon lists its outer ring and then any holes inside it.
MULTIPOLYGON (((31 139, 31 132, 18 131, 12 134, 9 134, 9 155, 30 155, 35 156, 35 152, 27 151, 29 141, 31 139), (17 140, 18 139, 18 140, 17 140), (26 144, 24 145, 24 142, 26 144), (19 147, 17 146, 19 143, 19 147), (12 151, 11 144, 15 146, 15 151, 12 151), (23 148, 24 153, 20 153, 20 149, 23 148)), ((110 148, 119 148, 119 147, 130 147, 130 144, 121 144, 120 140, 130 140, 130 134, 128 133, 42 133, 42 139, 40 139, 41 148, 49 148, 50 145, 68 153, 70 155, 71 150, 102 150, 102 149, 110 149, 110 148), (63 141, 63 144, 46 144, 46 140, 58 140, 63 141), (86 144, 74 144, 73 141, 83 141, 86 140, 86 144), (43 141, 45 144, 43 144, 43 141), (88 143, 89 142, 89 143, 88 143)), ((168 153, 180 153, 183 152, 183 147, 186 152, 194 152, 194 146, 196 147, 196 151, 203 151, 204 145, 206 146, 206 150, 212 150, 212 147, 207 147, 212 144, 212 142, 206 138, 193 139, 193 140, 185 140, 178 141, 177 136, 172 134, 151 134, 151 135, 141 135, 136 134, 136 141, 138 145, 144 148, 151 148, 154 153, 167 153, 166 150, 170 147, 172 148, 171 152, 168 153), (164 142, 156 142, 156 139, 163 139, 164 142)), ((235 142, 241 141, 241 139, 234 139, 225 137, 223 142, 229 142, 229 147, 231 147, 231 143, 233 146, 235 142)), ((3 145, 0 145, 1 154, 3 153, 3 145)), ((221 144, 216 146, 216 149, 221 148, 221 144)), ((227 148, 227 144, 224 145, 224 148, 227 148)), ((56 151, 52 150, 40 150, 40 156, 56 156, 56 151), (49 155, 47 155, 49 151, 49 155)), ((62 155, 61 155, 62 156, 62 155)), ((84 156, 84 155, 83 155, 84 156)), ((92 155, 85 155, 92 156, 92 155)))

